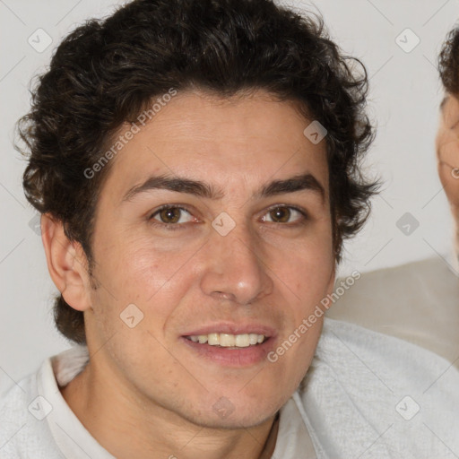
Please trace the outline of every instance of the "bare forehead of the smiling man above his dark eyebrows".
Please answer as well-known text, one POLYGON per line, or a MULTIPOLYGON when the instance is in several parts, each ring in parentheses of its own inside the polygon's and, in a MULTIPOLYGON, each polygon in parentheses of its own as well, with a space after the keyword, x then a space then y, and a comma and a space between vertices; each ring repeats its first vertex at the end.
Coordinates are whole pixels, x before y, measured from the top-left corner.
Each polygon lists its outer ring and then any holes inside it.
POLYGON ((231 99, 178 93, 117 154, 106 186, 120 195, 167 173, 220 188, 251 182, 258 188, 268 178, 311 172, 326 190, 326 143, 307 139, 310 123, 293 103, 263 91, 231 99))

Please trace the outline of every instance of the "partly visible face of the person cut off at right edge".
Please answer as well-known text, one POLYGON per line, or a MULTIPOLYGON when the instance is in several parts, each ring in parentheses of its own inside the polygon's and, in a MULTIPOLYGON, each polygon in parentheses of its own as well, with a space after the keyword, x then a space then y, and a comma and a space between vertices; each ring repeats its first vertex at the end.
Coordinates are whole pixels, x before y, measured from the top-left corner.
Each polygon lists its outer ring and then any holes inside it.
POLYGON ((459 100, 447 95, 437 131, 438 174, 455 217, 459 218, 459 100))

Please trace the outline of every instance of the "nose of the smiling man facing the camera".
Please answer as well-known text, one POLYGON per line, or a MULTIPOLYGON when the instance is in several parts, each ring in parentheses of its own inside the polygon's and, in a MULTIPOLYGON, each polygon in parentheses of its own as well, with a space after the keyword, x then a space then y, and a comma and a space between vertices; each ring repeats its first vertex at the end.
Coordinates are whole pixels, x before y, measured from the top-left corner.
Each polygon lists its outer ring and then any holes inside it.
POLYGON ((265 264, 261 241, 238 224, 226 236, 212 231, 204 248, 201 289, 214 299, 249 305, 273 291, 273 279, 265 264))

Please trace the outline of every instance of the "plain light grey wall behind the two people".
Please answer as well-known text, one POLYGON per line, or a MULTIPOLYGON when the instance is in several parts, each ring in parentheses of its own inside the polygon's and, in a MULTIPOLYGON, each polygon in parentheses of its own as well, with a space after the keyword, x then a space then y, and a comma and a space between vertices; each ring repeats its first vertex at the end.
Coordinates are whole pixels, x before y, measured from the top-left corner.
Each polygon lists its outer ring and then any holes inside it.
MULTIPOLYGON (((46 68, 60 39, 82 20, 106 15, 116 4, 120 2, 0 0, 0 393, 43 359, 69 347, 54 329, 50 299, 56 288, 41 239, 30 229, 35 212, 22 193, 25 162, 13 150, 13 126, 29 108, 31 76, 46 68), (28 43, 39 28, 53 40, 41 53, 28 43)), ((446 32, 459 17, 459 0, 288 4, 323 13, 333 39, 347 54, 361 58, 370 76, 369 112, 378 130, 367 169, 381 175, 385 186, 374 200, 366 228, 346 245, 341 273, 446 255, 452 222, 434 151, 437 106, 443 95, 436 64, 446 32), (410 53, 395 41, 406 28, 420 39, 410 53), (410 236, 396 226, 405 212, 420 222, 410 236)), ((404 40, 412 42, 409 35, 404 40)))

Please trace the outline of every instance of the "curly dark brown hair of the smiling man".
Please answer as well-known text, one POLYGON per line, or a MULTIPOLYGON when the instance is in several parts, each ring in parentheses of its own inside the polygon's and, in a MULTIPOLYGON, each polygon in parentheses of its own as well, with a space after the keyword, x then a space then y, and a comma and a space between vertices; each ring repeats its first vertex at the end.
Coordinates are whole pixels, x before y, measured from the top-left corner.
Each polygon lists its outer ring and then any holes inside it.
MULTIPOLYGON (((120 126, 135 122, 170 88, 199 88, 223 97, 269 91, 297 102, 306 119, 326 127, 333 247, 368 217, 377 182, 362 177, 360 160, 373 140, 365 112, 368 77, 343 56, 322 18, 270 0, 135 0, 106 19, 90 20, 56 48, 18 122, 28 157, 25 195, 39 212, 62 221, 91 267, 98 195, 110 164, 91 168, 120 126)), ((86 342, 83 314, 56 296, 57 329, 86 342)))

